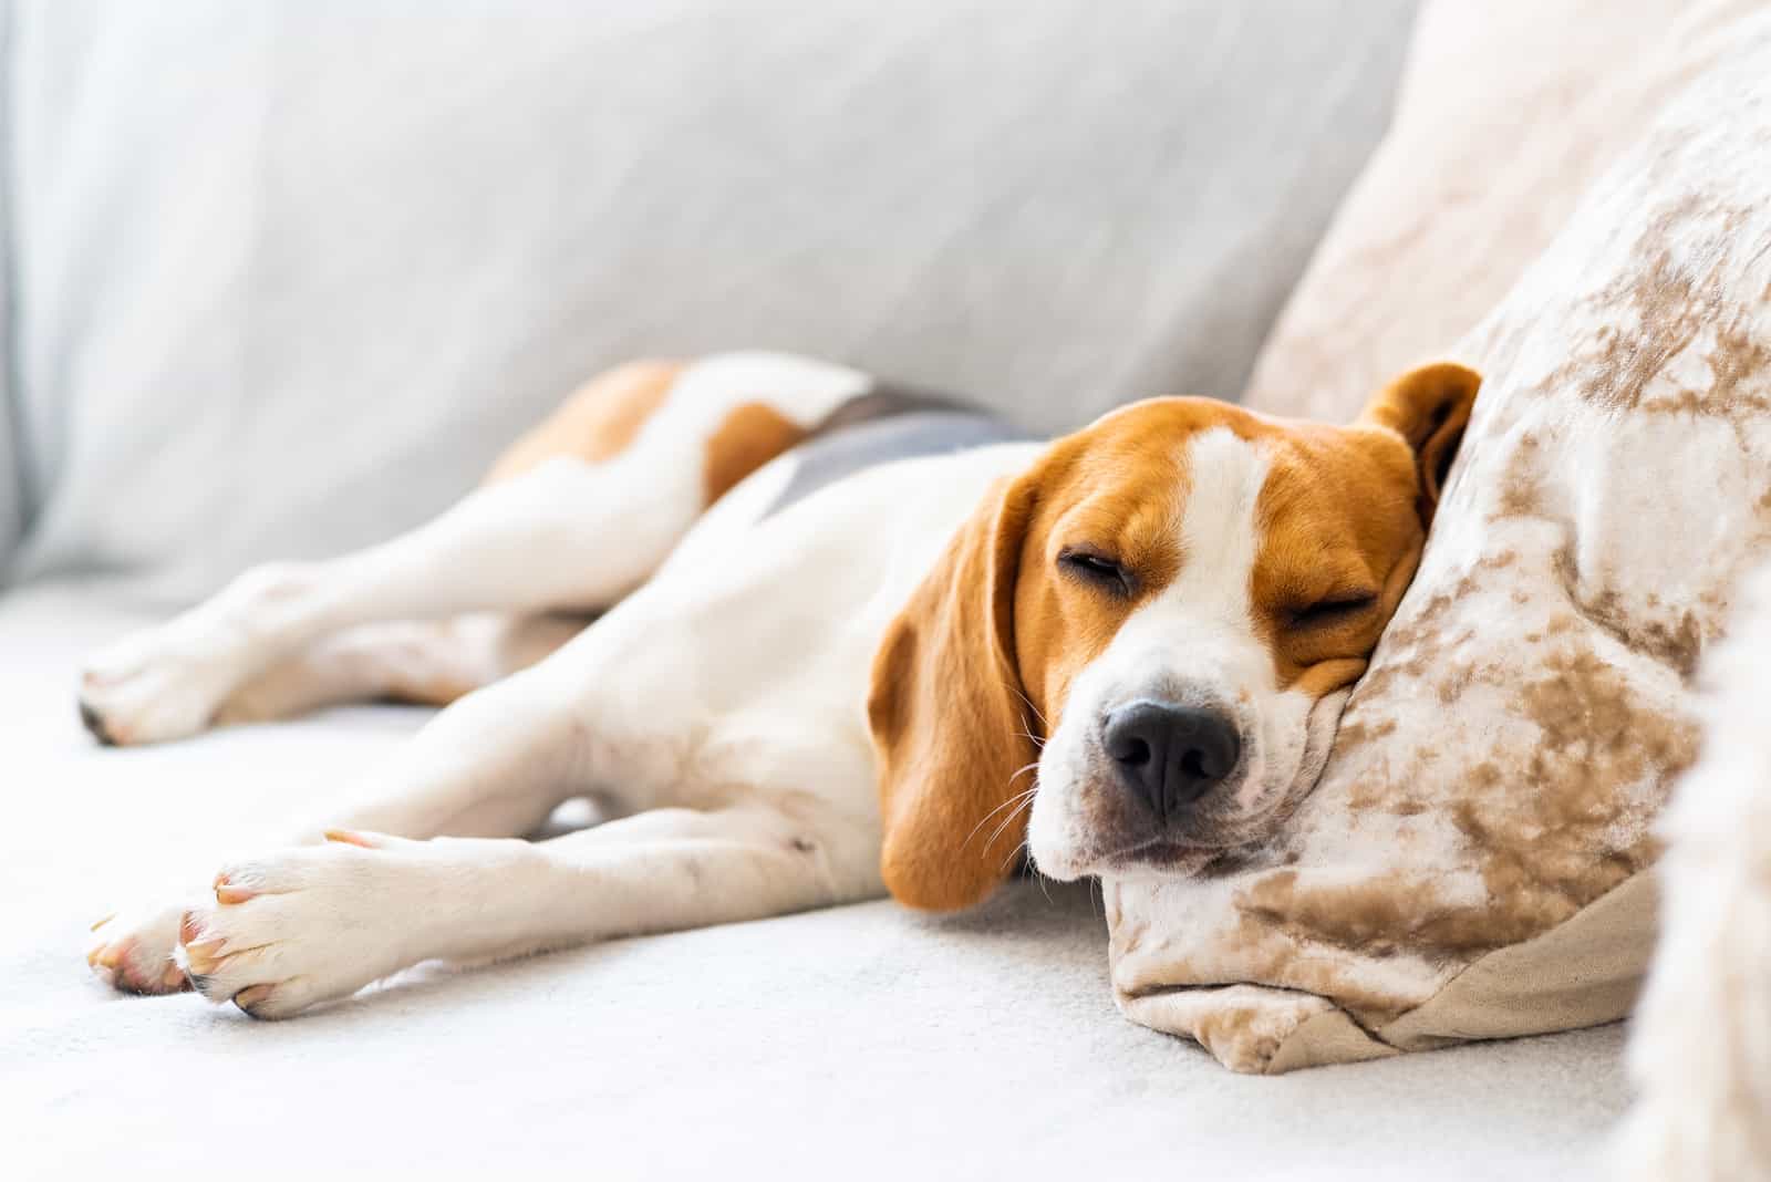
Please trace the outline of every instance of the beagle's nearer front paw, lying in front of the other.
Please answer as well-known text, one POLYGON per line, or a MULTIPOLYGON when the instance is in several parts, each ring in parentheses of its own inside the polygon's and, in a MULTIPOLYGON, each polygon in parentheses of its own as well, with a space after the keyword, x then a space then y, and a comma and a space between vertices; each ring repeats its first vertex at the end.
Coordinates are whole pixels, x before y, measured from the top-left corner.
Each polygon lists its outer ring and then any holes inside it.
POLYGON ((177 959, 211 1002, 290 1017, 421 959, 413 936, 436 901, 425 842, 328 833, 223 869, 214 902, 184 913, 177 959))

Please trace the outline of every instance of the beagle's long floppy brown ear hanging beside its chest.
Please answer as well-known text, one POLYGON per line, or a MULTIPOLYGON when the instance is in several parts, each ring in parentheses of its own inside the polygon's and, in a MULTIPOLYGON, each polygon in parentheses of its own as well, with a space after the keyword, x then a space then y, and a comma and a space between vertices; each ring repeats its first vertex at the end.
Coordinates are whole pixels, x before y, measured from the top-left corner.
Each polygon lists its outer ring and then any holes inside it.
POLYGON ((981 901, 1025 835, 1011 802, 1032 787, 1038 752, 1015 662, 1015 580, 1032 488, 1022 478, 985 495, 873 656, 880 871, 912 908, 981 901))

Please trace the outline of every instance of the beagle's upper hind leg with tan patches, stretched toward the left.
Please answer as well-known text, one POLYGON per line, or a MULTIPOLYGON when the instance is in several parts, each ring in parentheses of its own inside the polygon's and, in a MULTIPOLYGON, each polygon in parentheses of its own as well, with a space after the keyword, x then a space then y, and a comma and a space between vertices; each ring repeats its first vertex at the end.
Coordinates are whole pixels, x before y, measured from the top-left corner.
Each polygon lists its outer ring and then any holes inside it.
POLYGON ((347 628, 607 609, 708 504, 866 386, 854 370, 767 354, 615 370, 434 522, 345 557, 251 570, 99 653, 81 676, 81 718, 110 743, 182 738, 347 628))

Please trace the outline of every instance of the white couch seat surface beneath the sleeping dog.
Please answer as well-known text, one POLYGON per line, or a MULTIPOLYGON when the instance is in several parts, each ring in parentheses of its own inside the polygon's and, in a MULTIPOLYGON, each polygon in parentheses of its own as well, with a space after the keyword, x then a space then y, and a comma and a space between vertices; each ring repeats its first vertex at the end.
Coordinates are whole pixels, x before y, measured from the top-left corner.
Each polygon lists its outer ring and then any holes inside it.
POLYGON ((1114 1012, 1087 888, 418 968, 276 1025, 112 994, 89 922, 308 816, 423 717, 97 748, 73 665, 142 623, 50 587, 0 600, 0 1177, 1606 1177, 1617 1028, 1240 1079, 1114 1012))

